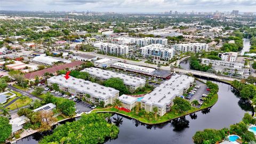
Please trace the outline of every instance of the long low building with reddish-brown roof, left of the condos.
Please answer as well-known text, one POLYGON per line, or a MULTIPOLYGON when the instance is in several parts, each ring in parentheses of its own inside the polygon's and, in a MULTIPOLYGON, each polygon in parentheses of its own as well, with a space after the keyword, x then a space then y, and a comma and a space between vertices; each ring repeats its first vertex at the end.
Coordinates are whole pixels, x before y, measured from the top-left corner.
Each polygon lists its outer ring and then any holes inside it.
POLYGON ((35 71, 35 72, 32 72, 32 73, 27 73, 27 74, 25 74, 25 77, 27 79, 30 79, 30 81, 33 81, 35 79, 35 76, 38 76, 40 78, 40 77, 43 77, 45 73, 56 75, 58 70, 63 70, 63 69, 66 69, 66 68, 68 68, 69 70, 73 70, 73 69, 81 67, 81 65, 83 63, 84 63, 83 61, 74 61, 74 62, 71 62, 71 63, 66 63, 64 65, 54 66, 54 67, 51 67, 51 68, 38 70, 38 71, 35 71))

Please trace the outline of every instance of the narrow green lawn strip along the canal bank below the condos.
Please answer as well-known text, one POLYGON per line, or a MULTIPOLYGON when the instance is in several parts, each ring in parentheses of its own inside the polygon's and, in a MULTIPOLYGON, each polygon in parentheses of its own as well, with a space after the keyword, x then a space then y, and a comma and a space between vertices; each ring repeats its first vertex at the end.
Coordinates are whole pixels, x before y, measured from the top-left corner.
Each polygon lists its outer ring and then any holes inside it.
POLYGON ((127 113, 125 111, 120 111, 114 107, 110 107, 110 108, 107 108, 107 109, 94 109, 92 111, 92 113, 98 113, 100 111, 104 111, 104 112, 116 112, 116 113, 119 113, 119 114, 123 114, 123 115, 126 115, 126 116, 129 116, 131 118, 134 118, 134 119, 137 119, 138 121, 142 122, 142 123, 146 123, 146 124, 158 124, 158 123, 164 123, 164 122, 167 122, 167 121, 170 121, 171 119, 175 119, 175 118, 178 118, 178 117, 181 117, 181 116, 185 116, 185 115, 188 115, 188 114, 191 114, 191 113, 195 113, 195 111, 199 111, 199 110, 202 110, 202 109, 205 109, 205 108, 208 108, 208 107, 211 107, 213 106, 218 100, 218 94, 214 94, 213 95, 213 98, 212 100, 207 103, 204 103, 203 106, 201 108, 192 108, 186 112, 183 112, 183 113, 179 113, 179 114, 175 114, 174 111, 170 111, 169 113, 166 113, 164 116, 162 117, 158 117, 157 119, 152 119, 151 121, 148 119, 148 117, 140 117, 138 116, 137 114, 135 114, 134 111, 131 111, 130 113, 127 113))

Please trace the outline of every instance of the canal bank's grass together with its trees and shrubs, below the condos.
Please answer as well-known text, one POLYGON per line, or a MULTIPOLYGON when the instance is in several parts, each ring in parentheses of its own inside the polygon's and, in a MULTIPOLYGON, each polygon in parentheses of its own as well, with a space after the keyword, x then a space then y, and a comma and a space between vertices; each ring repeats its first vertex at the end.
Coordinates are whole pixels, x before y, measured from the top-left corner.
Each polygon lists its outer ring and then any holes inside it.
MULTIPOLYGON (((140 108, 140 102, 137 102, 137 106, 134 107, 130 112, 126 112, 123 110, 119 110, 115 108, 115 106, 122 107, 120 105, 109 106, 107 108, 94 109, 92 113, 118 113, 121 115, 129 116, 131 118, 137 119, 138 121, 146 124, 159 124, 170 121, 171 119, 175 119, 178 117, 182 117, 191 113, 195 113, 196 111, 209 108, 213 106, 218 101, 218 90, 219 87, 217 84, 214 84, 210 81, 207 81, 206 85, 211 89, 208 97, 205 99, 205 102, 200 108, 191 107, 193 103, 189 103, 187 100, 182 98, 175 98, 173 100, 174 105, 171 107, 171 111, 167 112, 163 116, 156 115, 155 110, 153 112, 147 113, 145 109, 140 108)), ((156 110, 157 111, 157 110, 156 110)))

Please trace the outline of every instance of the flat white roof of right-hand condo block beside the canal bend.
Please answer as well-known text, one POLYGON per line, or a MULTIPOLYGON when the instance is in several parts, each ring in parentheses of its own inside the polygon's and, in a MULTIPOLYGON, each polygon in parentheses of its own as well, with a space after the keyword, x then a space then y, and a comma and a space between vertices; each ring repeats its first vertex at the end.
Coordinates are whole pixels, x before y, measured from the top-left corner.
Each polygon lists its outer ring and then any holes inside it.
POLYGON ((152 92, 146 94, 141 102, 147 105, 164 107, 169 105, 175 97, 181 96, 184 89, 194 82, 194 77, 174 75, 168 81, 157 86, 152 92))

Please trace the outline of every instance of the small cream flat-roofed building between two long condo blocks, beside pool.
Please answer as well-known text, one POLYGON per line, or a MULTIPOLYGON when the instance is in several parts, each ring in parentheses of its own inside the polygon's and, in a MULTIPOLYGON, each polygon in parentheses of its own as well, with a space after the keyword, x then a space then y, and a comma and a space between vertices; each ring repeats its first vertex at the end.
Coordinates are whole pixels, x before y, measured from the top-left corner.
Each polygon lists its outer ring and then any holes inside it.
POLYGON ((130 110, 134 108, 137 103, 137 98, 131 97, 130 95, 123 94, 118 99, 122 102, 122 107, 130 110))

